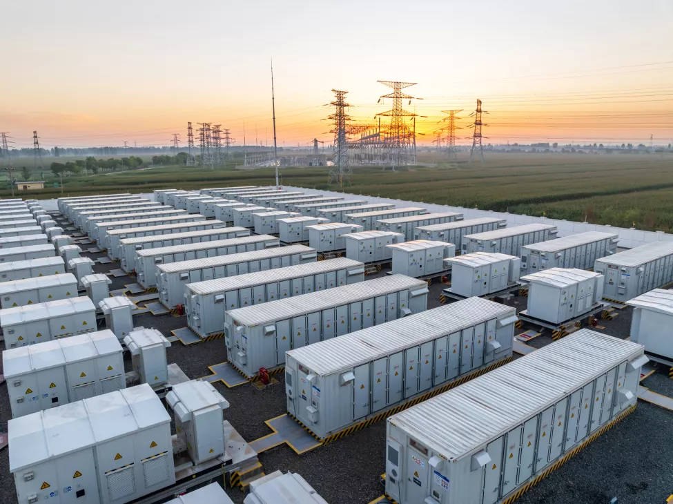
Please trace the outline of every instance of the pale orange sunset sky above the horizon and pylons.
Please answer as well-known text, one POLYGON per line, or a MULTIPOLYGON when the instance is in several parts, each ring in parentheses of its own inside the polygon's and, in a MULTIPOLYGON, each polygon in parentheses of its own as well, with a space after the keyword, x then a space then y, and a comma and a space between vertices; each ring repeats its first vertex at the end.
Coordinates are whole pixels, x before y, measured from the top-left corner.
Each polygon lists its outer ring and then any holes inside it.
MULTIPOLYGON (((420 143, 440 110, 477 98, 489 142, 673 139, 673 3, 478 4, 352 0, 229 3, 61 0, 3 7, 0 130, 32 146, 186 143, 186 122, 231 128, 237 144, 331 142, 331 88, 355 122, 388 110, 376 81, 418 82, 405 103, 420 143), (476 7, 478 5, 478 7, 476 7), (265 133, 266 129, 266 133, 265 133)), ((460 137, 469 136, 461 130, 460 137)), ((467 143, 461 139, 462 143, 467 143)))

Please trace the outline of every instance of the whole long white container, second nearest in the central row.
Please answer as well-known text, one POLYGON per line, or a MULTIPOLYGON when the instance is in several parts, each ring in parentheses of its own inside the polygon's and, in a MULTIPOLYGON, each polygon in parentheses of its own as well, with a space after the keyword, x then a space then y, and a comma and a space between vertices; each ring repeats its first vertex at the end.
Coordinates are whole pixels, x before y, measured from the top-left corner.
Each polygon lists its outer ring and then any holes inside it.
POLYGON ((516 320, 470 298, 288 351, 288 411, 322 440, 382 418, 509 360, 516 320))

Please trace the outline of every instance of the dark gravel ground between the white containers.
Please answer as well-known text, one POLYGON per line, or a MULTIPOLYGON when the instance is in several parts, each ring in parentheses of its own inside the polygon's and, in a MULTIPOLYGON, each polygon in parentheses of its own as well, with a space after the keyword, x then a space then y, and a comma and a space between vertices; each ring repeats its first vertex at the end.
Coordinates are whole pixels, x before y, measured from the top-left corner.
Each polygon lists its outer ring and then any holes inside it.
MULTIPOLYGON (((103 255, 87 254, 92 259, 103 255)), ((94 270, 96 273, 106 273, 116 267, 119 267, 118 263, 96 264, 94 270)), ((384 273, 382 271, 375 276, 384 273)), ((135 278, 130 276, 112 280, 111 290, 135 282, 135 278)), ((429 308, 440 306, 439 295, 444 287, 438 282, 431 285, 429 308)), ((526 301, 527 298, 514 296, 506 304, 520 311, 525 309, 526 301)), ((599 324, 605 329, 596 330, 627 338, 631 309, 619 310, 618 313, 619 316, 612 321, 601 320, 599 324)), ((135 326, 159 329, 165 336, 170 336, 171 329, 186 326, 184 317, 155 317, 151 313, 135 316, 134 322, 135 326)), ((534 327, 525 326, 521 331, 525 329, 534 327)), ((528 344, 540 348, 550 342, 549 331, 546 331, 528 344)), ((209 365, 226 360, 224 340, 188 347, 175 342, 167 353, 168 362, 177 363, 189 378, 206 376, 210 374, 209 365)), ((128 362, 126 364, 128 366, 128 362)), ((279 382, 263 391, 248 384, 233 389, 228 389, 221 382, 215 384, 231 405, 225 411, 225 418, 246 440, 270 434, 264 420, 286 411, 284 376, 275 376, 279 382)), ((667 378, 667 369, 650 376, 643 385, 659 394, 673 397, 673 380, 667 378)), ((0 386, 0 429, 6 430, 8 418, 10 407, 7 390, 0 386)), ((302 456, 296 455, 286 445, 281 445, 261 454, 260 461, 266 474, 277 469, 298 472, 330 504, 367 504, 383 493, 379 480, 385 469, 385 425, 385 422, 377 423, 302 456)), ((672 412, 639 402, 634 414, 524 494, 517 503, 607 504, 613 496, 619 498, 620 504, 664 503, 673 492, 673 447, 669 439, 672 427, 672 412)), ((14 482, 8 466, 8 450, 4 449, 0 452, 0 503, 15 504, 14 482)), ((242 504, 242 492, 230 489, 227 493, 236 504, 242 504)))

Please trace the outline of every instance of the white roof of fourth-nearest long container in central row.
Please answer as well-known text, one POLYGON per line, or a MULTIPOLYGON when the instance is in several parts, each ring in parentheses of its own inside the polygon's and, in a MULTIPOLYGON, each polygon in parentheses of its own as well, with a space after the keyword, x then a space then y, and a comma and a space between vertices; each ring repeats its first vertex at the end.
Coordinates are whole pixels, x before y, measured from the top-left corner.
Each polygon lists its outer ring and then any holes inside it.
POLYGON ((292 278, 303 278, 304 276, 337 271, 339 269, 353 270, 360 268, 364 268, 364 263, 360 261, 348 258, 336 258, 306 264, 295 264, 295 266, 286 266, 266 271, 255 271, 254 273, 244 273, 243 275, 234 275, 226 278, 215 278, 213 280, 204 280, 203 282, 194 282, 193 284, 187 284, 186 289, 191 291, 191 293, 208 295, 244 289, 246 287, 255 287, 255 285, 270 284, 271 282, 281 282, 282 280, 292 278))

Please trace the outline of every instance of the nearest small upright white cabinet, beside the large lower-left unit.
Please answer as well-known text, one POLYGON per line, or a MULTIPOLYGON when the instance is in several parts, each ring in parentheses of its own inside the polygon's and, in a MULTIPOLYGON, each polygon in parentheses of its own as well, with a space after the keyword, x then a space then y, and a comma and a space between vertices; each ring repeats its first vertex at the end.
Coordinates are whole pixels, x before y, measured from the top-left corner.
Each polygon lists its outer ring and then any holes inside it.
POLYGON ((177 440, 195 464, 224 455, 222 412, 229 407, 215 387, 202 380, 173 385, 166 403, 175 413, 177 440))

